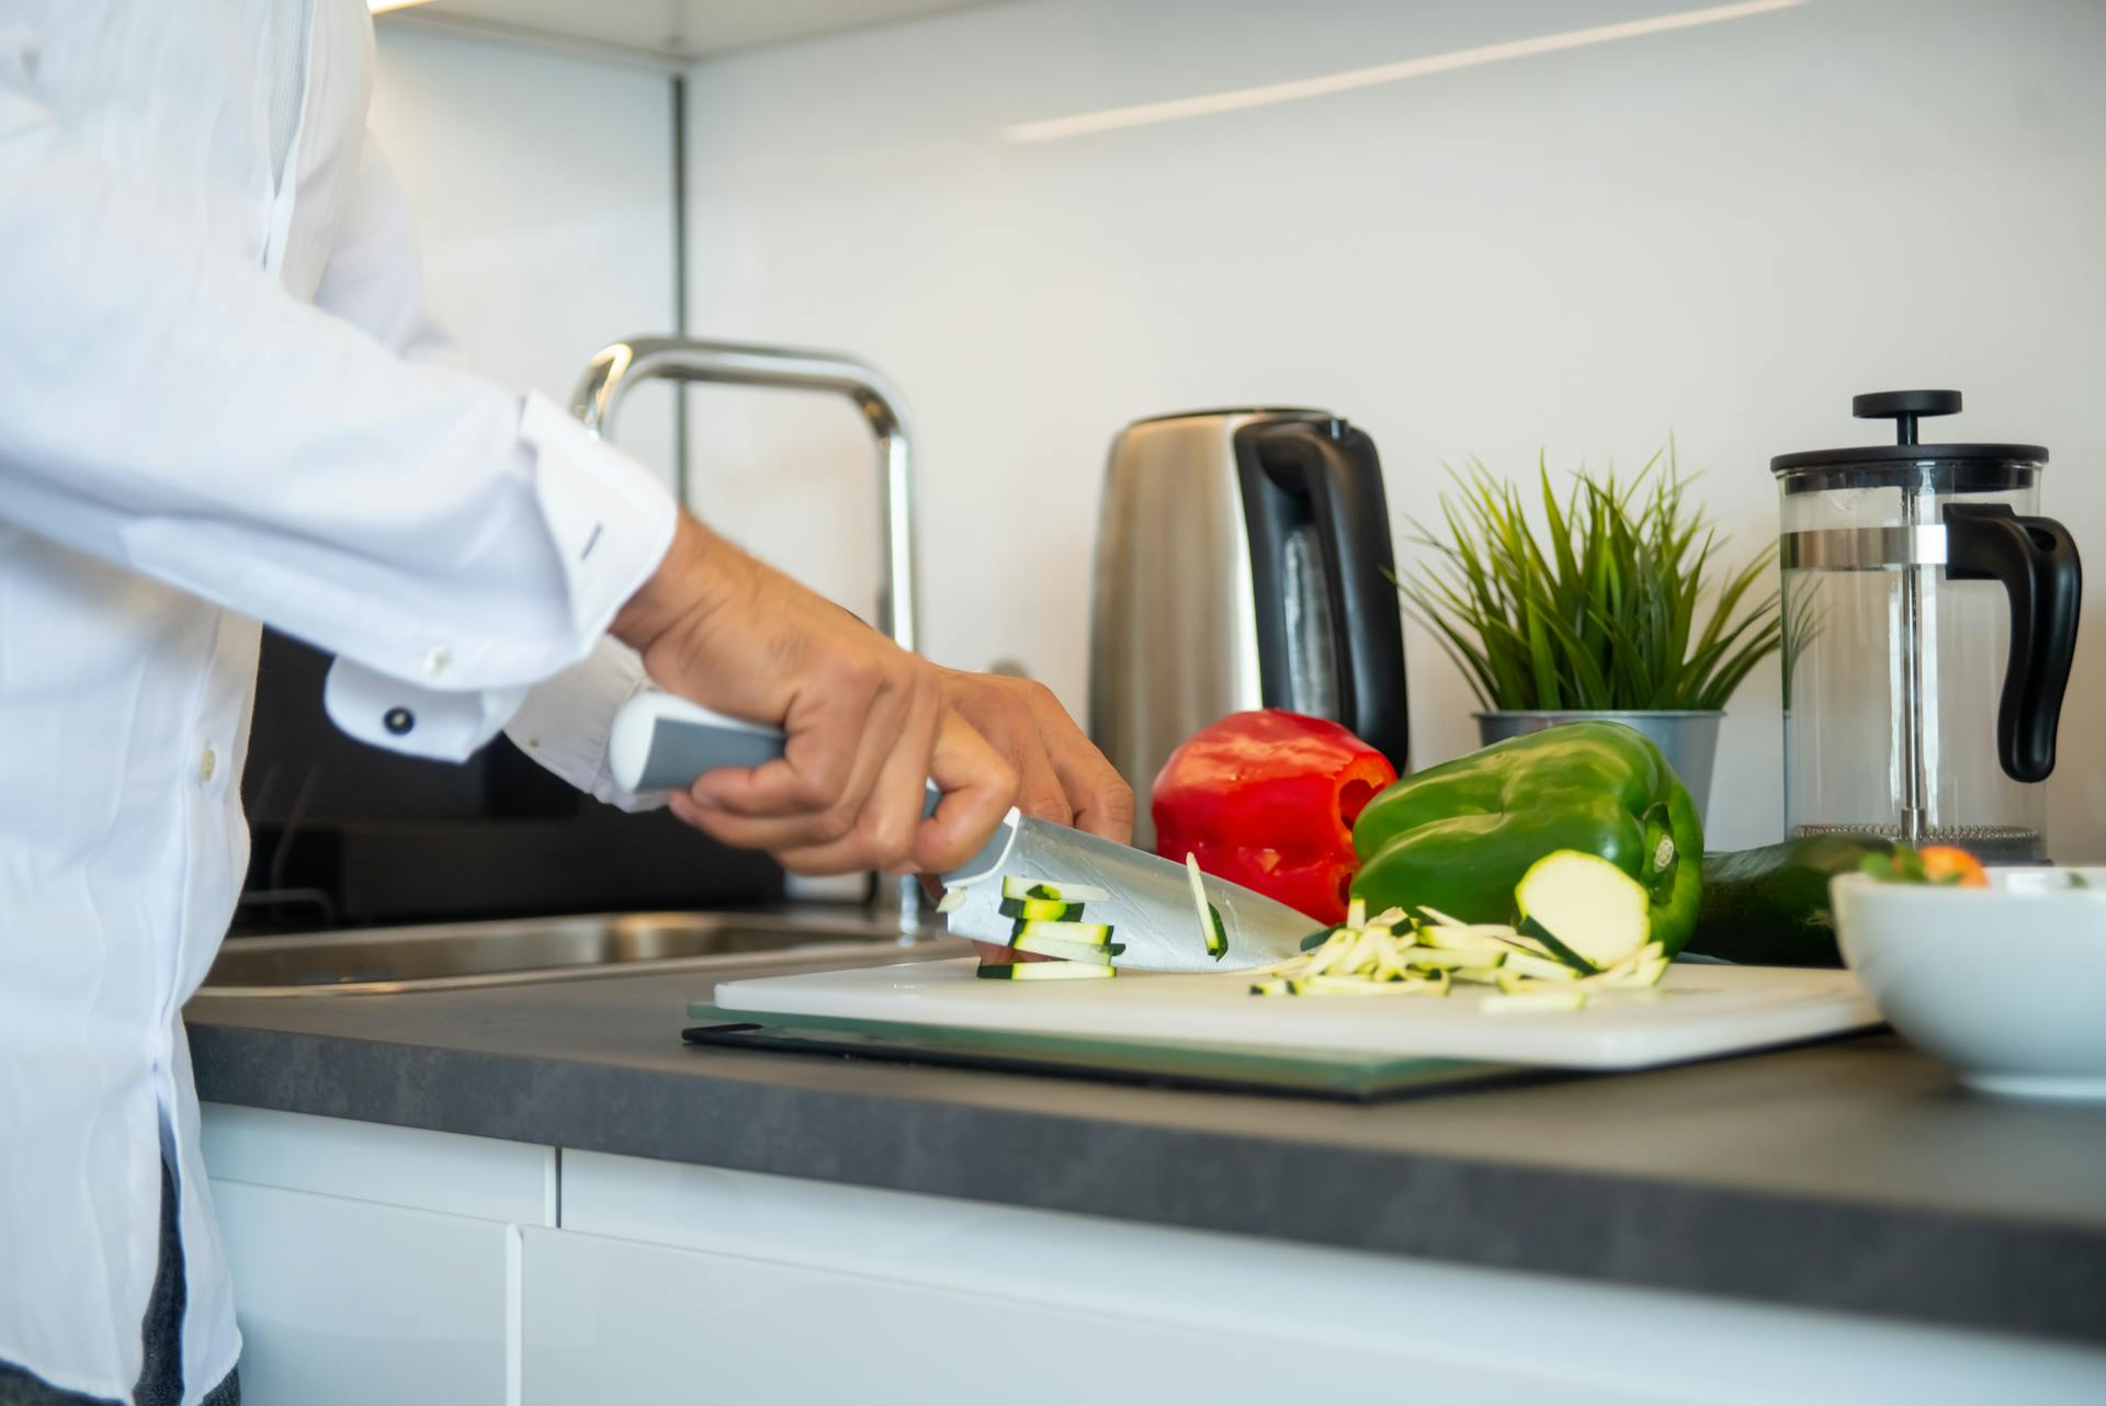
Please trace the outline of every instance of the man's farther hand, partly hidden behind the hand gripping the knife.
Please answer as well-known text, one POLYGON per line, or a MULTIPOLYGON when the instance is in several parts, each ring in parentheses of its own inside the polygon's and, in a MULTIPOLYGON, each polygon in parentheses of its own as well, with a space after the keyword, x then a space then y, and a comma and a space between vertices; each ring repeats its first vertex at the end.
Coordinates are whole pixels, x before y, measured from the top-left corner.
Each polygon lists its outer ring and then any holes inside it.
POLYGON ((943 669, 943 697, 1017 772, 1017 808, 1106 840, 1133 840, 1133 787, 1053 690, 1028 678, 943 669))

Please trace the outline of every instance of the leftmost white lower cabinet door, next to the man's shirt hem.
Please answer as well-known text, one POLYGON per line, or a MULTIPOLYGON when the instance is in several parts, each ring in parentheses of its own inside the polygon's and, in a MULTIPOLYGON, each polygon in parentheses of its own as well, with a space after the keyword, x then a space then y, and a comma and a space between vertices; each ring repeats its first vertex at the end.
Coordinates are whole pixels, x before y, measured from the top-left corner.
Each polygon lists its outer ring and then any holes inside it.
POLYGON ((505 1406, 518 1227, 215 1181, 249 1406, 505 1406))

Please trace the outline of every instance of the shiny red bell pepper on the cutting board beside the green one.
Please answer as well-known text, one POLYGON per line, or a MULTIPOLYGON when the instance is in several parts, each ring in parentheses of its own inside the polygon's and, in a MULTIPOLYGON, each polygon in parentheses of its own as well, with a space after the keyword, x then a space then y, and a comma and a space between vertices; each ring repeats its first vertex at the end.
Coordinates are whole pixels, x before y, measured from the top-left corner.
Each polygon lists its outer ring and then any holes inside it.
POLYGON ((1230 714, 1171 754, 1150 815, 1156 852, 1297 907, 1346 918, 1352 821, 1396 781, 1388 758, 1327 718, 1230 714))

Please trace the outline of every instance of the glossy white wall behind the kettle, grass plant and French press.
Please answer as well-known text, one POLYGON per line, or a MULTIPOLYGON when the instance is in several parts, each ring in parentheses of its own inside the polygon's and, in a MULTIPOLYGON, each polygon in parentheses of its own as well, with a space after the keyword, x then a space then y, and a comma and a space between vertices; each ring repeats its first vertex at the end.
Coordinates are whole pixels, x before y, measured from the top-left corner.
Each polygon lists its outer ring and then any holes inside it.
MULTIPOLYGON (((1443 459, 1636 463, 1672 429, 1754 551, 1771 455, 1876 440, 1853 391, 1954 385, 1959 438, 2053 448, 2045 507, 2106 564, 2091 0, 1813 0, 1253 112, 1000 135, 1697 2, 1019 0, 703 63, 691 318, 842 347, 906 389, 929 652, 1019 655, 1076 709, 1106 444, 1205 404, 1346 413, 1398 518, 1430 509, 1443 459)), ((868 606, 857 423, 754 404, 697 413, 697 499, 868 606)), ((1428 764, 1472 745, 1472 703, 1415 629, 1409 650, 1428 764)), ((1733 703, 1716 844, 1780 829, 1775 690, 1769 669, 1733 703)), ((2102 703, 2093 623, 2051 783, 2064 859, 2106 857, 2102 703)))

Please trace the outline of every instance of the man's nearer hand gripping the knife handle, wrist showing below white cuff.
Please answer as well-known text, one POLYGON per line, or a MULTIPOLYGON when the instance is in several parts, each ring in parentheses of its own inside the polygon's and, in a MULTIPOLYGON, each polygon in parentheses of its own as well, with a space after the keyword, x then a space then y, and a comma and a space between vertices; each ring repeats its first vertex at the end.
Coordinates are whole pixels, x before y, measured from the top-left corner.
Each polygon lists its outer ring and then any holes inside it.
POLYGON ((788 737, 781 760, 672 796, 724 844, 796 873, 941 871, 1015 804, 1017 770, 958 716, 941 669, 687 514, 613 634, 663 688, 788 737), (943 800, 922 819, 929 779, 943 800))

